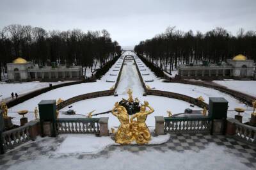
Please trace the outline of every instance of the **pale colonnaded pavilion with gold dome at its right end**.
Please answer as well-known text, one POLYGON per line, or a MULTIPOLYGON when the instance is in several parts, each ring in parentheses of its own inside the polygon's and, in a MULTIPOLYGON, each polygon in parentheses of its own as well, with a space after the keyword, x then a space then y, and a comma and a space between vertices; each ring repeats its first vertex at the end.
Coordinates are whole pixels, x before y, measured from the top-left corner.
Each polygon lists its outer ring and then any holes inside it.
POLYGON ((227 59, 227 63, 218 65, 179 65, 178 73, 182 78, 204 78, 204 77, 221 77, 221 78, 243 78, 252 77, 254 72, 253 60, 247 59, 239 54, 233 59, 227 59))

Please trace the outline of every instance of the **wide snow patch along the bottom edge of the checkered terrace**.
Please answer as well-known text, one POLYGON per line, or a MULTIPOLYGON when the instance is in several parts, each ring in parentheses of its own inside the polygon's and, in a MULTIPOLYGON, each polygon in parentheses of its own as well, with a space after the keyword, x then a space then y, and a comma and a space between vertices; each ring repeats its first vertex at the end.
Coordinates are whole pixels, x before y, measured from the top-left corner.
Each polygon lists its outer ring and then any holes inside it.
POLYGON ((246 159, 237 157, 225 146, 210 143, 204 150, 164 152, 147 147, 145 151, 133 153, 117 147, 105 155, 84 158, 76 155, 58 157, 53 151, 50 157, 37 155, 32 160, 12 164, 10 169, 250 169, 244 162, 246 159))

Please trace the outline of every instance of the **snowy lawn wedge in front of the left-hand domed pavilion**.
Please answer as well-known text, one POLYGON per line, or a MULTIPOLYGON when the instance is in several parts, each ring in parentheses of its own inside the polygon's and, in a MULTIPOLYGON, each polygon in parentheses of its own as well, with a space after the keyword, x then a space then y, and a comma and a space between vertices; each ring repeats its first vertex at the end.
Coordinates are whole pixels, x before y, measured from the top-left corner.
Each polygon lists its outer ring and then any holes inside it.
POLYGON ((22 95, 24 93, 28 93, 31 91, 35 91, 36 89, 46 88, 49 87, 49 83, 52 86, 57 84, 63 84, 66 82, 72 81, 58 81, 58 82, 39 82, 39 81, 32 81, 32 82, 20 82, 20 83, 6 83, 0 82, 0 100, 3 98, 10 98, 11 93, 17 93, 18 95, 22 95))

